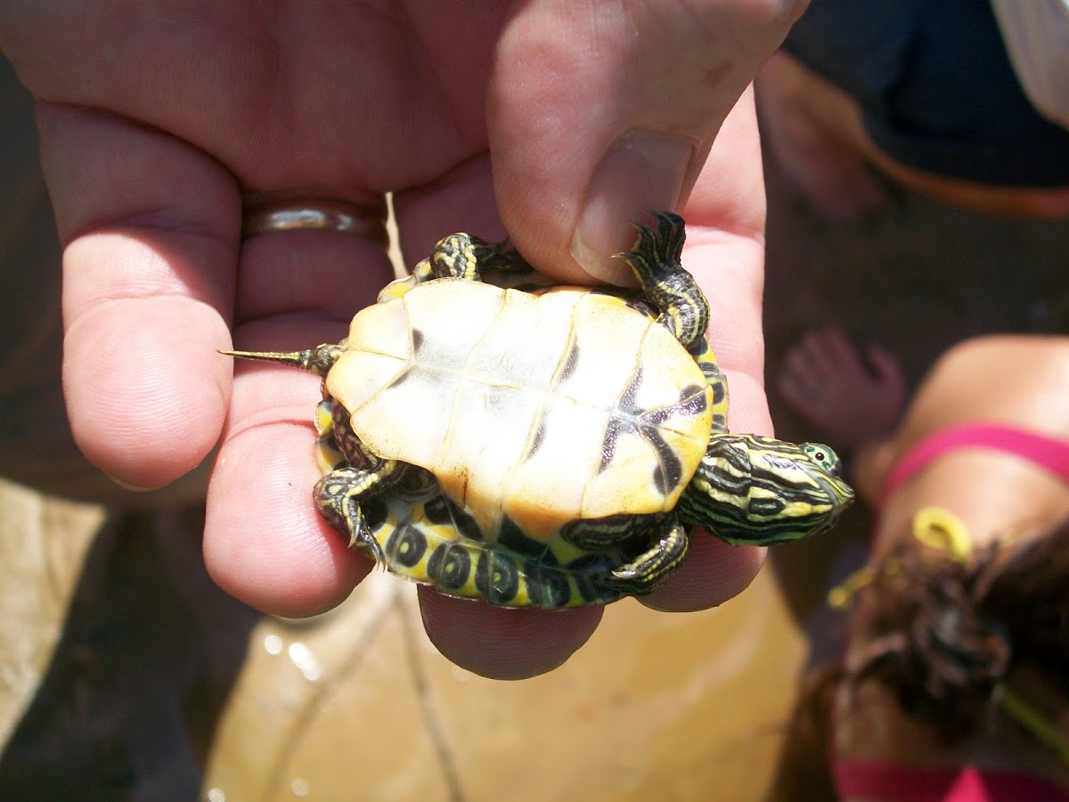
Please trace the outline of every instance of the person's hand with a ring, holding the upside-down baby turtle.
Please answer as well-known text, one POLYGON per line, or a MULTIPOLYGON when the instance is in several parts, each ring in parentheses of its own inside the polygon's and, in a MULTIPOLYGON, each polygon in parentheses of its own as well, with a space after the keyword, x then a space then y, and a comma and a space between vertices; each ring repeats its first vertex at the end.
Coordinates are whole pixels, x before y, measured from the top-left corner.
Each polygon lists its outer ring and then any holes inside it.
MULTIPOLYGON (((186 474, 218 442, 204 554, 231 593, 306 615, 371 568, 311 504, 317 381, 262 368, 232 376, 216 350, 231 331, 255 349, 340 338, 391 277, 378 240, 387 190, 408 264, 445 233, 507 231, 562 280, 613 277, 607 255, 633 238, 624 221, 690 196, 684 264, 710 296, 732 427, 771 429, 763 187, 752 99, 734 104, 801 4, 614 7, 0 7, 0 46, 38 101, 65 246, 75 437, 103 471, 142 488, 186 474), (241 238, 243 204, 320 199, 363 210, 363 230, 241 238)), ((721 603, 759 561, 757 550, 695 538, 644 601, 721 603)), ((444 653, 498 677, 558 665, 602 614, 496 611, 425 588, 420 601, 444 653)))

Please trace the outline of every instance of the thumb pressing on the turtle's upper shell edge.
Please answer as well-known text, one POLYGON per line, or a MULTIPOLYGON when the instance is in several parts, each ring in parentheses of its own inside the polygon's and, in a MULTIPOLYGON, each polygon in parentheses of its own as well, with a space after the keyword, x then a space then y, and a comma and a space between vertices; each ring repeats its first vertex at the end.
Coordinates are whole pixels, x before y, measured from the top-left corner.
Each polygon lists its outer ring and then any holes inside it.
POLYGON ((498 211, 562 280, 628 280, 626 223, 679 210, 725 117, 802 0, 520 3, 491 78, 498 211))

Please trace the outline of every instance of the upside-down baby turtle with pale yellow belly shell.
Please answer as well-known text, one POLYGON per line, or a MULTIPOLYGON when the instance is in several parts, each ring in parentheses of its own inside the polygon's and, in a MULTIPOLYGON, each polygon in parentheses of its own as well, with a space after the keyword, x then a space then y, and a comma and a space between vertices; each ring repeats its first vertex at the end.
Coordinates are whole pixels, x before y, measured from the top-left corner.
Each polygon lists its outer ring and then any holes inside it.
POLYGON ((796 540, 853 499, 826 446, 728 433, 683 220, 654 217, 637 292, 517 289, 516 251, 458 233, 342 342, 223 353, 323 376, 315 503, 390 572, 502 607, 648 593, 695 528, 796 540))

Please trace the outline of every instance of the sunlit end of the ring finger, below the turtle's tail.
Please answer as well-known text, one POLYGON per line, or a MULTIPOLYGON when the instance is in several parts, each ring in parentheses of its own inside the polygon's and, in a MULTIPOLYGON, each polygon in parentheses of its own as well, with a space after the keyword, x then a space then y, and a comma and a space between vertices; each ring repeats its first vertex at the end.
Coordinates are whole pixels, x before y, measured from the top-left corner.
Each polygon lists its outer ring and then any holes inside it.
POLYGON ((241 371, 244 387, 231 416, 237 422, 228 427, 208 483, 204 562, 231 596, 265 613, 300 617, 332 607, 373 566, 312 502, 320 473, 308 421, 317 382, 280 372, 241 371), (257 404, 258 390, 270 403, 257 404))

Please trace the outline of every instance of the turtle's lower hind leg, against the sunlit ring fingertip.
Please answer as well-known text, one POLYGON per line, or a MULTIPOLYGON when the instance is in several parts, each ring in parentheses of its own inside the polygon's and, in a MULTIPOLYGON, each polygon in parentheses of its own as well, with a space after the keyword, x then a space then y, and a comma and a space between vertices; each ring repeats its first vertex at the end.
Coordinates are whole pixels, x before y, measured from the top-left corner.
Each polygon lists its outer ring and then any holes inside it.
POLYGON ((346 465, 331 471, 315 483, 315 505, 335 529, 348 535, 350 547, 357 546, 382 560, 382 550, 371 535, 360 503, 396 487, 407 467, 398 460, 383 460, 371 468, 346 465))

